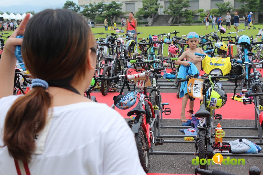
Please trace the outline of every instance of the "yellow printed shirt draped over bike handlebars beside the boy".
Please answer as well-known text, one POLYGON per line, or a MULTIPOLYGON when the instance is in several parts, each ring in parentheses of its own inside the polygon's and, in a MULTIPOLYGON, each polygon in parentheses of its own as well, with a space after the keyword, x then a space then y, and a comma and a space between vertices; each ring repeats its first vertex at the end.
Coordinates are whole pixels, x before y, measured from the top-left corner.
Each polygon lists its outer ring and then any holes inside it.
POLYGON ((205 59, 201 62, 201 68, 208 75, 221 75, 225 76, 230 73, 231 62, 230 57, 209 57, 205 56, 205 59))

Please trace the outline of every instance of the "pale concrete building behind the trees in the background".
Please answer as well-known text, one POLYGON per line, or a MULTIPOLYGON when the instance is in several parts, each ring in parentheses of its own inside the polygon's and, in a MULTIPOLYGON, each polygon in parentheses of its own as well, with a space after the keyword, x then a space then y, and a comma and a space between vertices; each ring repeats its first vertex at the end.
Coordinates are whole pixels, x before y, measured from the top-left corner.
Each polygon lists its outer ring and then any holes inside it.
MULTIPOLYGON (((81 7, 84 7, 85 5, 89 3, 98 3, 98 2, 103 2, 103 3, 109 3, 112 0, 79 0, 78 5, 81 7)), ((209 13, 210 9, 216 8, 216 3, 224 3, 224 2, 231 2, 233 5, 234 9, 232 10, 231 14, 234 14, 235 10, 238 10, 241 8, 242 3, 240 3, 237 0, 189 0, 190 7, 187 9, 189 10, 198 10, 198 9, 204 9, 205 13, 209 13)), ((117 0, 116 2, 122 3, 122 12, 123 16, 128 16, 129 12, 134 12, 136 13, 138 11, 138 8, 142 7, 142 1, 141 0, 117 0)), ((162 8, 159 9, 159 15, 166 15, 163 13, 165 9, 168 8, 169 6, 169 1, 168 0, 159 0, 159 3, 162 8)), ((224 15, 224 14, 223 14, 224 15)), ((242 18, 242 14, 240 16, 242 18)), ((259 13, 255 12, 254 13, 255 17, 255 22, 258 22, 258 17, 259 13)), ((197 21, 199 19, 199 15, 195 14, 193 20, 197 21)), ((145 19, 145 21, 149 19, 145 19)), ((183 18, 180 19, 181 21, 184 20, 183 18)))

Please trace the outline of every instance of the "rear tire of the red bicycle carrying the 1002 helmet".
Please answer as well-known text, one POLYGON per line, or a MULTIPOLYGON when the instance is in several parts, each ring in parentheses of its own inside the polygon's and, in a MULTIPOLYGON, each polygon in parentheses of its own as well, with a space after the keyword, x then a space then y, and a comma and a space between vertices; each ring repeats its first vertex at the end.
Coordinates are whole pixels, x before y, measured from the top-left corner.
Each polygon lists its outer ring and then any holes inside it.
POLYGON ((147 173, 150 169, 149 146, 148 139, 145 136, 145 132, 142 126, 140 126, 139 132, 135 133, 135 142, 139 152, 141 166, 147 173))

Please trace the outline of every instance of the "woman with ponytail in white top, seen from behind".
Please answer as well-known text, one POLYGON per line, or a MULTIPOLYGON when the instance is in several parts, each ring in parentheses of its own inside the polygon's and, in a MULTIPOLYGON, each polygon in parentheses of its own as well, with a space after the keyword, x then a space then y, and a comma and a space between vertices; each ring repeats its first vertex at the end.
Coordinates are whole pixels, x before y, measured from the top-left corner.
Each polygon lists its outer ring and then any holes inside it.
POLYGON ((96 63, 87 22, 65 9, 29 17, 0 61, 0 174, 145 174, 122 116, 83 96, 96 63), (17 45, 34 79, 12 96, 17 45))

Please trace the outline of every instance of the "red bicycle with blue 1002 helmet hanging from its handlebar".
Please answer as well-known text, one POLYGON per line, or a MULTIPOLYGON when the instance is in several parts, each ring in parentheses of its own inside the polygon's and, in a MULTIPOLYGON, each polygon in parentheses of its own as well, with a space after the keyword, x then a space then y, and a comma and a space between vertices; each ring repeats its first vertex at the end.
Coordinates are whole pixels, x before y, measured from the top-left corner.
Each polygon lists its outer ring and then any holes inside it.
MULTIPOLYGON (((153 144, 162 145, 164 143, 163 139, 154 139, 153 125, 156 124, 156 115, 154 113, 153 107, 150 101, 145 98, 143 88, 149 83, 149 77, 151 73, 159 73, 163 71, 164 68, 155 68, 142 73, 137 73, 133 75, 116 75, 114 77, 103 77, 105 81, 119 81, 124 78, 124 83, 120 95, 113 98, 114 105, 119 109, 129 109, 133 107, 138 97, 139 102, 132 110, 130 110, 127 115, 135 115, 134 120, 128 121, 131 130, 134 133, 135 142, 139 152, 139 158, 141 165, 145 172, 149 171, 149 150, 152 148, 153 144), (140 79, 138 79, 140 78, 140 79), (136 90, 130 90, 129 82, 140 89, 138 95, 136 95, 136 90), (127 86, 128 91, 123 93, 124 87, 127 86), (151 118, 153 118, 151 123, 151 118)), ((148 84, 149 85, 149 84, 148 84)), ((156 126, 156 125, 155 125, 156 126)))

